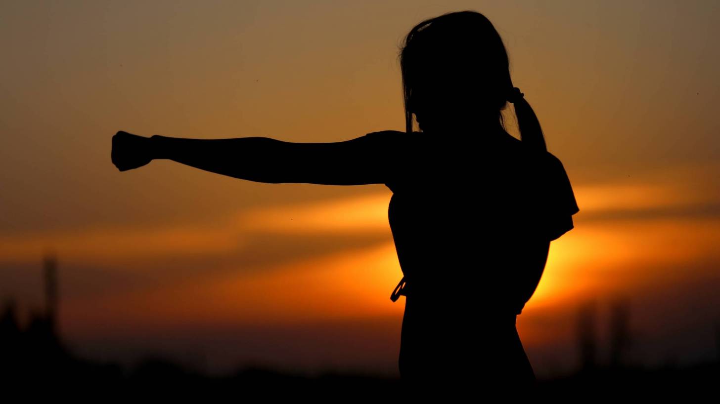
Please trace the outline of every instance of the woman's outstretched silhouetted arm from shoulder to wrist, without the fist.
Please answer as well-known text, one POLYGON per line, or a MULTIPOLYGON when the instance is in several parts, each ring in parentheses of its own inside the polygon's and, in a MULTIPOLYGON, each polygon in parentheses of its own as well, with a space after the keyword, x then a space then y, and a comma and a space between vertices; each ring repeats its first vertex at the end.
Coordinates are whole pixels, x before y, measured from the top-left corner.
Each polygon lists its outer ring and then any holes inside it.
POLYGON ((269 137, 186 139, 154 135, 145 139, 151 160, 173 160, 261 183, 363 185, 386 183, 390 175, 390 161, 383 157, 389 156, 387 150, 366 136, 328 143, 284 142, 269 137))

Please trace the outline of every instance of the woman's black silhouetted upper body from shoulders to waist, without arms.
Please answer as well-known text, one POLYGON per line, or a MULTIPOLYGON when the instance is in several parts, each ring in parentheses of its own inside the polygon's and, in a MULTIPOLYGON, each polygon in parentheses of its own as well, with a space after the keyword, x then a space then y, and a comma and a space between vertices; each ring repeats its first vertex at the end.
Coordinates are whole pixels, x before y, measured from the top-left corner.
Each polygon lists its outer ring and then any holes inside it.
POLYGON ((518 284, 528 282, 518 253, 534 243, 526 237, 533 212, 526 206, 533 179, 528 151, 507 133, 456 143, 413 136, 413 149, 401 159, 405 170, 387 184, 407 293, 519 313, 525 301, 518 299, 534 289, 518 284))

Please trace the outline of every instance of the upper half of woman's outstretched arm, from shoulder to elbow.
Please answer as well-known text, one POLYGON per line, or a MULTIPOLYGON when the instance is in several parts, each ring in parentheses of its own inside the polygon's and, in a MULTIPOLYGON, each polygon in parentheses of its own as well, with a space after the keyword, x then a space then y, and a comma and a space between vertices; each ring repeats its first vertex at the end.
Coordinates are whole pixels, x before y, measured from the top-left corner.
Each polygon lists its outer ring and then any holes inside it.
POLYGON ((323 185, 384 184, 393 175, 393 144, 404 132, 372 132, 342 142, 300 143, 278 140, 277 183, 323 185))

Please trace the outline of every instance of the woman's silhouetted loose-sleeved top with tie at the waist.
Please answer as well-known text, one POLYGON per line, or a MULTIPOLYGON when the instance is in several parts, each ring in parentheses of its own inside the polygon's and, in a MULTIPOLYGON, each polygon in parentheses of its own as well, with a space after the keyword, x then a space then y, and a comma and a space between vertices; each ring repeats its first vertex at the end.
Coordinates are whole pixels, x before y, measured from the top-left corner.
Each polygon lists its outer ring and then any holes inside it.
POLYGON ((403 277, 391 300, 425 294, 520 314, 540 276, 522 267, 523 254, 546 252, 580 211, 562 162, 506 132, 365 137, 393 193, 388 219, 403 277))

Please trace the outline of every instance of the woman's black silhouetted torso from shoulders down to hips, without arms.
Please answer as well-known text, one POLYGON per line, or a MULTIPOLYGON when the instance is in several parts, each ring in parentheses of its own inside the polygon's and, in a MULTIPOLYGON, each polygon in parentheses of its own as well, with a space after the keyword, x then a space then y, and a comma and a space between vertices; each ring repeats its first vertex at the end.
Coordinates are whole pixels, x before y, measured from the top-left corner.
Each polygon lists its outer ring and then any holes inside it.
POLYGON ((387 183, 406 280, 401 373, 465 374, 482 362, 529 380, 515 326, 539 280, 520 259, 531 243, 523 239, 527 151, 507 133, 482 142, 413 135, 405 170, 387 183))

